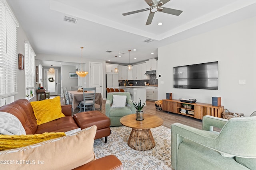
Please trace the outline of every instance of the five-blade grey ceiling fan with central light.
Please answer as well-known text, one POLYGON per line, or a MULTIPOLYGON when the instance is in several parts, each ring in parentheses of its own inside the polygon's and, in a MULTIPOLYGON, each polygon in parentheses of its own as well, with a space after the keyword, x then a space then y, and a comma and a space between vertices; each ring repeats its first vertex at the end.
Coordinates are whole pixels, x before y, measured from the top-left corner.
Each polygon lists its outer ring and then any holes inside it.
POLYGON ((127 12, 127 13, 124 13, 123 16, 127 16, 127 15, 130 15, 130 14, 135 14, 135 13, 138 13, 138 12, 143 12, 143 11, 150 10, 150 13, 148 15, 148 20, 146 22, 146 25, 149 25, 149 24, 151 24, 151 22, 153 20, 153 17, 154 17, 154 14, 157 11, 164 12, 164 13, 167 13, 167 14, 176 15, 176 16, 179 16, 182 13, 182 11, 180 11, 180 10, 175 10, 175 9, 171 9, 171 8, 162 7, 162 5, 166 4, 170 0, 160 0, 158 2, 156 0, 145 0, 145 1, 149 5, 149 8, 145 8, 145 9, 137 10, 137 11, 132 11, 132 12, 127 12))

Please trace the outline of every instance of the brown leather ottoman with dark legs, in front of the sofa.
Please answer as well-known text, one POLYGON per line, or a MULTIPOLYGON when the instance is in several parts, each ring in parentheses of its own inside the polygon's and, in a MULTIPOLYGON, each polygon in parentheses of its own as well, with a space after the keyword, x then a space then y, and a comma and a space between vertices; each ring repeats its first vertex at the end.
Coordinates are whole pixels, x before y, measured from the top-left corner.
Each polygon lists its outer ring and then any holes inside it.
POLYGON ((84 111, 73 115, 78 127, 85 129, 92 125, 97 126, 95 139, 105 137, 107 143, 108 136, 110 135, 110 119, 98 110, 84 111))

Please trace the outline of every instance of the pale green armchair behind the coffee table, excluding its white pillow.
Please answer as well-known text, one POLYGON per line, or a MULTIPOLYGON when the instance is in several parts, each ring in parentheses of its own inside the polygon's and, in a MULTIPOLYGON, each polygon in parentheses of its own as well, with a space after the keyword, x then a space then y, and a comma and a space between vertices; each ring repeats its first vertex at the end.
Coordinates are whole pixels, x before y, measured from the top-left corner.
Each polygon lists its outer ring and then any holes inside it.
POLYGON ((120 123, 120 118, 129 115, 129 114, 135 114, 136 109, 132 104, 131 94, 129 92, 111 92, 107 93, 107 99, 106 99, 106 116, 110 118, 110 126, 122 126, 120 123), (118 108, 112 108, 111 105, 113 103, 113 95, 121 95, 121 96, 127 96, 126 97, 126 103, 128 106, 126 107, 118 107, 118 108))

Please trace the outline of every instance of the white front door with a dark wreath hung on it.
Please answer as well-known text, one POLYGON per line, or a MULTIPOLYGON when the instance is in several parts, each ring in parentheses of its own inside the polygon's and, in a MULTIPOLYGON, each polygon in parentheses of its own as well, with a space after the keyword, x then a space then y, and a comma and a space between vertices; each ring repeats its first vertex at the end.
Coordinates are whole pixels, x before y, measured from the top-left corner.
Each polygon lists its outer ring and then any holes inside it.
POLYGON ((44 69, 44 88, 50 92, 51 96, 58 95, 58 70, 50 73, 49 69, 44 69))

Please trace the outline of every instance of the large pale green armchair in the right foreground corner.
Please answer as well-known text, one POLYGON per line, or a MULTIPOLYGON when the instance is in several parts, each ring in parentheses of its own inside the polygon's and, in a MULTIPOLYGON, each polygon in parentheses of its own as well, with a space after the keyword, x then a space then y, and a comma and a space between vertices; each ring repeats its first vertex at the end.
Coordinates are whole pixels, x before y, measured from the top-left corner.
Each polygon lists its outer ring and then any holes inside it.
POLYGON ((227 120, 206 115, 202 130, 180 123, 171 129, 174 170, 256 170, 255 116, 227 120))

